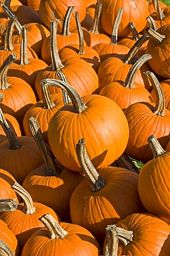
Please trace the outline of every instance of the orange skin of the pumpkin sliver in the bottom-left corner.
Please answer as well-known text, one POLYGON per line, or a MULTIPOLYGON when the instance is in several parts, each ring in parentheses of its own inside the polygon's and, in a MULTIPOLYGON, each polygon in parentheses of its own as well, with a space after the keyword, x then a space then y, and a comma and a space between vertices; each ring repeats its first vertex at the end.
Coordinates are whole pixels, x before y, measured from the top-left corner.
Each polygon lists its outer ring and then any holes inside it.
POLYGON ((10 247, 14 255, 19 256, 18 240, 3 220, 0 220, 0 237, 10 247))

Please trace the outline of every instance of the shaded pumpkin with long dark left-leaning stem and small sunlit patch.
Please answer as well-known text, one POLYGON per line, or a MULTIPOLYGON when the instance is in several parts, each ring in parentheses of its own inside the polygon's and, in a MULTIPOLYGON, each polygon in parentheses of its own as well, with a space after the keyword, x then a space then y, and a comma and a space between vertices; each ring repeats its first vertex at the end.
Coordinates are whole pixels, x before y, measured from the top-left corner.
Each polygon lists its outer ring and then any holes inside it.
POLYGON ((61 216, 62 221, 71 222, 70 197, 83 180, 83 176, 65 167, 62 169, 58 167, 56 159, 46 146, 36 118, 30 118, 30 128, 45 164, 30 172, 22 186, 30 193, 33 201, 51 207, 61 216))

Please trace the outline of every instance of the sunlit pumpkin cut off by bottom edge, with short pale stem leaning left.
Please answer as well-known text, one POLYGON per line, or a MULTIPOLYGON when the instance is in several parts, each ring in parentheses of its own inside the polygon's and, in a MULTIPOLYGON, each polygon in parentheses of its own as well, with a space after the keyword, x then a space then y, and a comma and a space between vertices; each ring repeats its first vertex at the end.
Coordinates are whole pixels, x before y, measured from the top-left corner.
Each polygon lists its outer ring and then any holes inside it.
POLYGON ((100 255, 100 246, 91 233, 78 225, 57 221, 50 215, 40 220, 45 228, 39 229, 25 244, 21 256, 43 256, 50 250, 50 256, 96 256, 100 255))

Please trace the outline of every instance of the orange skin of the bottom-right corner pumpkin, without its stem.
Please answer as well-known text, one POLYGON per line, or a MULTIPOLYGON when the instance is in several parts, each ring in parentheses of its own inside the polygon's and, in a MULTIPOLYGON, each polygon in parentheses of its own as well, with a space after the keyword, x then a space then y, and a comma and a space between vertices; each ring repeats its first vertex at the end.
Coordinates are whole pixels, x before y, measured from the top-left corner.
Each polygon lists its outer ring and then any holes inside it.
POLYGON ((119 221, 116 226, 132 230, 134 235, 128 245, 120 243, 118 255, 169 255, 170 226, 164 220, 151 214, 135 213, 119 221))

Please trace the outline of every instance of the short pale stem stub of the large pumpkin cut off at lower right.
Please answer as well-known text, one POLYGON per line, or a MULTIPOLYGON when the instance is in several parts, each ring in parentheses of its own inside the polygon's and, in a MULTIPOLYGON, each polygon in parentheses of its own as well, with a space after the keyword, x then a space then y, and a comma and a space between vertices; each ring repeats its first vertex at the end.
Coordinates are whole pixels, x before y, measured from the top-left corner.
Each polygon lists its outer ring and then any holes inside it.
POLYGON ((154 134, 151 135, 147 141, 149 143, 150 149, 152 150, 153 158, 162 156, 166 153, 166 151, 162 148, 154 134))

